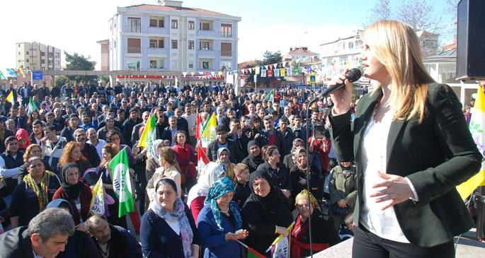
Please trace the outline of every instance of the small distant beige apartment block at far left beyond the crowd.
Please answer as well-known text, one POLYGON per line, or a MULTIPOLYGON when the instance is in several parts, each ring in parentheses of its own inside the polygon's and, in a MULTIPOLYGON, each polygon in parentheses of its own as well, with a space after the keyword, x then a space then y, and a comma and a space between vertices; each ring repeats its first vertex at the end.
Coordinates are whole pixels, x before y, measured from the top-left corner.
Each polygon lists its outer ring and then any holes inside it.
POLYGON ((25 70, 61 69, 61 49, 39 42, 16 43, 16 67, 25 70))

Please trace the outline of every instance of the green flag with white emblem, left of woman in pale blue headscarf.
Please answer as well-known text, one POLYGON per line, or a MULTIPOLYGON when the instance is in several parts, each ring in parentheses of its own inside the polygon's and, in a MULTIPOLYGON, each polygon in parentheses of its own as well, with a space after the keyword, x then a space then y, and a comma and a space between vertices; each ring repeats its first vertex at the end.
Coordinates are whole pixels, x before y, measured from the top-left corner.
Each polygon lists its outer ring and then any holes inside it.
POLYGON ((126 147, 111 159, 109 166, 111 168, 111 178, 113 179, 113 191, 120 201, 118 218, 121 218, 126 213, 135 211, 126 147))

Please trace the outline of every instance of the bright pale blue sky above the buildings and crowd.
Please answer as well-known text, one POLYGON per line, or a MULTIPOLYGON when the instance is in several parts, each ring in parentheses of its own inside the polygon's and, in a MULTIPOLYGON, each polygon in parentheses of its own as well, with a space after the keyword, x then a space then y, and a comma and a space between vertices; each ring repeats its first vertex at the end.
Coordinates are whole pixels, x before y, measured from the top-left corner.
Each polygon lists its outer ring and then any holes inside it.
MULTIPOLYGON (((391 0, 392 3, 398 0, 391 0)), ((3 1, 0 22, 11 24, 0 40, 0 67, 15 66, 15 43, 37 41, 69 53, 78 52, 101 60, 96 43, 109 35, 108 19, 116 6, 156 4, 156 0, 50 0, 3 1)), ((442 13, 445 0, 428 0, 442 13)), ((319 52, 319 45, 353 35, 369 16, 375 0, 186 0, 183 6, 204 8, 232 16, 239 23, 238 61, 261 59, 265 50, 288 52, 299 45, 319 52), (302 35, 302 33, 307 32, 302 35)), ((449 20, 448 20, 449 22, 449 20)), ((63 55, 64 57, 64 55, 63 55)))

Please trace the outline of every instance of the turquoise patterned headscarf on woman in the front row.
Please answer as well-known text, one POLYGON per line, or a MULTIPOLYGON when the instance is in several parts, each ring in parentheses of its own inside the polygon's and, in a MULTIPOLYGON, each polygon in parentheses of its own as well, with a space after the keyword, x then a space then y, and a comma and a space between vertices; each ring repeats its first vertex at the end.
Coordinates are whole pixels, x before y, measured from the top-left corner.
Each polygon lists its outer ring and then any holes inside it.
MULTIPOLYGON (((222 228, 221 210, 219 209, 219 206, 217 206, 217 199, 228 192, 234 192, 234 183, 227 177, 219 178, 212 187, 210 187, 209 194, 207 194, 207 198, 205 198, 204 201, 205 204, 210 204, 210 209, 212 210, 212 215, 214 215, 215 223, 217 224, 219 231, 224 231, 224 228, 222 228)), ((239 210, 237 209, 237 204, 234 201, 230 201, 229 209, 236 220, 236 230, 239 230, 242 225, 242 219, 241 214, 239 214, 239 210)))

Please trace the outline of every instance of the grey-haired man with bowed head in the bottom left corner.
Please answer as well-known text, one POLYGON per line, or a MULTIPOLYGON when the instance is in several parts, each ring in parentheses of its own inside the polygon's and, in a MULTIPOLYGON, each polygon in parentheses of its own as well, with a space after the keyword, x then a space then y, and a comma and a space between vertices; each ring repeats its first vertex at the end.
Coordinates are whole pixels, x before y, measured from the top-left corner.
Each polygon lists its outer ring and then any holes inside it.
POLYGON ((67 239, 74 234, 71 214, 52 208, 35 216, 28 226, 14 228, 0 235, 0 257, 56 257, 64 251, 67 239))

